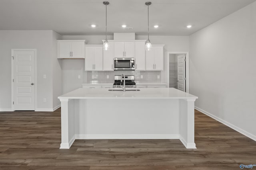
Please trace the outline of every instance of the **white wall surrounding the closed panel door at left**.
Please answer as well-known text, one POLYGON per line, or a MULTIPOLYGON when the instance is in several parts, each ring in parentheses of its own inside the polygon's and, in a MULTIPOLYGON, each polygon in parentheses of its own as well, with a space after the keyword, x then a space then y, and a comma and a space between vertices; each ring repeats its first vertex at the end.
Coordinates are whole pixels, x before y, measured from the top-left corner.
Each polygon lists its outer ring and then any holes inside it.
MULTIPOLYGON (((60 75, 60 68, 56 54, 55 39, 60 37, 51 30, 44 31, 5 31, 0 30, 0 110, 11 111, 11 49, 36 49, 37 50, 37 98, 36 110, 51 110, 58 102, 53 102, 53 77, 60 75), (54 57, 53 60, 52 57, 54 57), (58 70, 53 74, 54 70, 58 70), (46 79, 43 75, 46 74, 46 79), (46 98, 46 102, 43 102, 46 98)), ((59 85, 59 80, 54 80, 55 85, 59 85), (58 83, 56 83, 58 82, 58 83)), ((54 94, 57 96, 58 91, 54 94)))

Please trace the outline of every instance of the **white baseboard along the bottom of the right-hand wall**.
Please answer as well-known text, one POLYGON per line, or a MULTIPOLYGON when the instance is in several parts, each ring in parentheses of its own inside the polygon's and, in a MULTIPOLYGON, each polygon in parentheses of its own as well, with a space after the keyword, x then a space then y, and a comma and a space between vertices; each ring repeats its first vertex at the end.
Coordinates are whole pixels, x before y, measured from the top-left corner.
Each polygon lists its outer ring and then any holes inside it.
POLYGON ((252 133, 249 133, 249 132, 247 132, 247 131, 241 129, 240 127, 237 127, 237 126, 235 126, 235 125, 233 125, 233 124, 231 124, 231 123, 228 123, 227 121, 225 121, 225 120, 223 120, 223 119, 220 119, 219 117, 217 117, 217 116, 215 116, 215 115, 212 115, 211 113, 209 113, 209 112, 207 112, 207 111, 205 111, 205 110, 203 110, 203 109, 200 109, 199 107, 196 107, 196 106, 195 106, 195 109, 198 110, 198 111, 200 111, 200 112, 202 112, 202 113, 204 113, 205 115, 208 115, 208 116, 212 117, 212 118, 215 119, 216 121, 219 121, 220 123, 222 123, 222 124, 224 124, 224 125, 226 125, 226 126, 232 128, 232 129, 234 129, 235 131, 238 131, 239 133, 242 133, 242 134, 245 135, 246 137, 248 137, 248 138, 250 138, 250 139, 256 141, 256 136, 253 135, 252 133))

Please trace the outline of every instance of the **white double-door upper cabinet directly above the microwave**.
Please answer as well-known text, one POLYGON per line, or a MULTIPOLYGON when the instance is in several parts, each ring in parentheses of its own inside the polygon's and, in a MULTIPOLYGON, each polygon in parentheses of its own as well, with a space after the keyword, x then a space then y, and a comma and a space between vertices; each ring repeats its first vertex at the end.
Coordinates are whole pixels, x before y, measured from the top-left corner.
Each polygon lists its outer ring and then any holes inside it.
POLYGON ((134 57, 134 41, 114 41, 114 57, 134 57))

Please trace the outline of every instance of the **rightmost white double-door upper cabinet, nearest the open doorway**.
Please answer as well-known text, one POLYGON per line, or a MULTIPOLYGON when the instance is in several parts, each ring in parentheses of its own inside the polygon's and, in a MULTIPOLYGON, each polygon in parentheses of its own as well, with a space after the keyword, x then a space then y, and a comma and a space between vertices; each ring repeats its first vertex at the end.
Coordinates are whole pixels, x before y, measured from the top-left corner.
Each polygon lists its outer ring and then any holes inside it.
POLYGON ((164 45, 153 45, 146 51, 146 70, 164 70, 164 45))

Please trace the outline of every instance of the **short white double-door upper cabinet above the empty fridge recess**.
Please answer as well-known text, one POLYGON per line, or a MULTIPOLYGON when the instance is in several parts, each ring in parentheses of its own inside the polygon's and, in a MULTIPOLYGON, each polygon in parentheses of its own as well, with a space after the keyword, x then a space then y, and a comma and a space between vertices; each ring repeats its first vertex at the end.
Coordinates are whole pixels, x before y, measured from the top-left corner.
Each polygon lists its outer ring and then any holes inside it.
POLYGON ((58 59, 84 59, 85 40, 57 40, 58 59))

